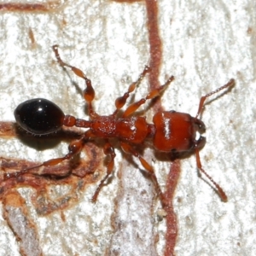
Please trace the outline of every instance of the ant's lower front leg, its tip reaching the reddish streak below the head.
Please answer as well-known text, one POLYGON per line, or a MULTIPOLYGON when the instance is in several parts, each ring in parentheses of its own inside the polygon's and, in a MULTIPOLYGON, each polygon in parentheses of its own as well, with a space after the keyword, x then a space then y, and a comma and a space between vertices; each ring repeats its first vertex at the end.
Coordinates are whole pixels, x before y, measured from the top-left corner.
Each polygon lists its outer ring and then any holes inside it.
POLYGON ((123 149, 123 151, 125 153, 132 154, 133 156, 137 157, 138 160, 140 160, 140 162, 143 165, 143 167, 145 168, 145 170, 148 171, 148 173, 150 174, 150 176, 152 178, 152 181, 154 183, 155 191, 156 191, 157 195, 160 198, 161 205, 162 205, 162 207, 165 207, 166 206, 166 202, 165 202, 166 201, 166 197, 165 197, 165 195, 162 193, 162 191, 160 189, 160 184, 157 181, 157 177, 155 176, 153 167, 150 166, 148 164, 148 162, 146 160, 144 160, 143 157, 140 156, 134 148, 131 147, 130 144, 120 142, 120 145, 121 145, 121 148, 123 149))

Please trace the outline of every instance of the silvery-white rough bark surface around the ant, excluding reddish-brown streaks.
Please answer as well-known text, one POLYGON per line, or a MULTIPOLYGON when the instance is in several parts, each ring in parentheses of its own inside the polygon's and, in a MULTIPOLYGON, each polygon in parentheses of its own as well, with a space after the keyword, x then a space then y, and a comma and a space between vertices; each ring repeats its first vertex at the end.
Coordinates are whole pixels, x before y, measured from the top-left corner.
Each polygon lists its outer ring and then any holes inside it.
MULTIPOLYGON (((236 79, 236 87, 207 105, 203 114, 207 145, 201 150, 201 161, 224 188, 229 201, 221 202, 209 185, 197 177, 194 157, 183 160, 177 187, 177 196, 182 201, 177 202, 177 197, 174 200, 179 225, 176 253, 255 255, 255 1, 166 0, 159 1, 159 6, 164 49, 160 81, 164 82, 170 74, 176 78, 163 96, 166 109, 193 115, 201 95, 230 78, 236 79)), ((4 121, 14 120, 13 111, 20 102, 38 96, 59 104, 65 113, 84 117, 84 102, 67 73, 56 65, 50 48, 53 44, 60 44, 63 59, 82 68, 92 80, 96 111, 101 114, 112 113, 116 96, 137 79, 149 60, 143 3, 66 1, 62 9, 50 14, 2 12, 0 27, 0 116, 4 121), (34 33, 35 46, 28 37, 29 28, 34 33)), ((84 88, 83 81, 72 74, 71 77, 84 88)), ((145 82, 137 90, 136 98, 144 96, 147 90, 145 82)), ((67 152, 65 143, 44 152, 28 148, 18 140, 1 139, 0 143, 0 153, 5 157, 48 160, 67 152)), ((120 161, 118 154, 116 171, 124 170, 120 161)), ((126 165, 123 163, 125 168, 126 165)), ((154 166, 161 185, 165 183, 168 165, 156 162, 154 166)), ((143 175, 132 172, 131 188, 138 187, 138 179, 144 179, 143 175)), ((113 236, 113 200, 121 182, 123 179, 114 177, 102 190, 96 205, 90 203, 95 189, 91 186, 79 196, 76 206, 64 211, 66 222, 59 212, 44 218, 29 207, 38 225, 44 255, 103 255, 107 248, 113 252, 116 245, 129 246, 129 253, 118 250, 120 255, 148 255, 143 250, 155 255, 154 236, 148 236, 148 230, 152 234, 160 230, 157 250, 162 255, 164 223, 154 222, 155 213, 148 209, 148 199, 143 201, 141 192, 134 192, 137 196, 132 195, 129 203, 122 203, 125 226, 131 227, 124 234, 140 237, 140 241, 131 237, 128 245, 126 236, 113 236), (145 219, 137 212, 145 212, 145 219), (145 228, 132 226, 132 218, 145 228)), ((148 180, 142 181, 139 191, 148 191, 146 195, 152 196, 151 187, 148 180)), ((0 255, 20 255, 3 218, 0 225, 0 255)))

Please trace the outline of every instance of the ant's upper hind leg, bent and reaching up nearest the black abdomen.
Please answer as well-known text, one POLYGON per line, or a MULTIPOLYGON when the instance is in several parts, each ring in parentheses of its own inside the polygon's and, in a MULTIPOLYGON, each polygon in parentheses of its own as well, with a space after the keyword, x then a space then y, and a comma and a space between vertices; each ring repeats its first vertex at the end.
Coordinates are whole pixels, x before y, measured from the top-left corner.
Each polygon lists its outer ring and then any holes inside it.
POLYGON ((55 57, 56 57, 57 61, 59 62, 59 64, 61 65, 61 67, 70 67, 71 70, 73 71, 73 73, 75 73, 79 78, 84 79, 85 84, 86 84, 86 88, 84 89, 84 100, 88 104, 90 118, 92 118, 92 119, 96 118, 98 115, 93 110, 92 104, 91 104, 91 102, 94 100, 94 97, 95 97, 95 91, 91 85, 90 79, 87 79, 87 77, 84 75, 83 71, 81 71, 79 68, 73 67, 73 66, 65 63, 64 61, 62 61, 61 56, 59 55, 58 47, 59 47, 59 45, 55 44, 52 46, 52 49, 54 50, 55 57))

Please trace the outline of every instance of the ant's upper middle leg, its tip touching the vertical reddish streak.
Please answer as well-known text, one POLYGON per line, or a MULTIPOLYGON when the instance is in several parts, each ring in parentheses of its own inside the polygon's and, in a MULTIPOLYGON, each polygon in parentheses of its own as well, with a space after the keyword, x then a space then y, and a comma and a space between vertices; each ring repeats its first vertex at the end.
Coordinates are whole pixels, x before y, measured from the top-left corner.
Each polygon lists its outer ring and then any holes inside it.
POLYGON ((150 72, 150 67, 148 66, 145 66, 144 67, 144 70, 143 70, 143 73, 141 73, 139 75, 139 78, 137 79, 136 82, 133 82, 130 86, 129 86, 129 89, 125 92, 125 94, 123 96, 120 96, 118 97, 116 100, 115 100, 115 107, 116 107, 116 110, 113 112, 113 115, 116 114, 119 109, 123 108, 125 103, 126 103, 126 100, 128 99, 128 97, 130 96, 130 93, 135 90, 137 88, 137 86, 142 82, 143 78, 145 77, 145 75, 147 73, 150 72))

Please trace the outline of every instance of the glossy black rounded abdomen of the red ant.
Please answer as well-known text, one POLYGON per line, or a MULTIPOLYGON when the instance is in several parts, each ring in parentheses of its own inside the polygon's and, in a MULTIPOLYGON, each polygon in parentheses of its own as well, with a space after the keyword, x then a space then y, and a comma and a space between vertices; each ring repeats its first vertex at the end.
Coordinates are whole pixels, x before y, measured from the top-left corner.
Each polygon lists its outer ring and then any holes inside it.
POLYGON ((61 128, 64 113, 55 103, 37 98, 20 103, 15 109, 15 119, 22 129, 44 135, 61 128))

